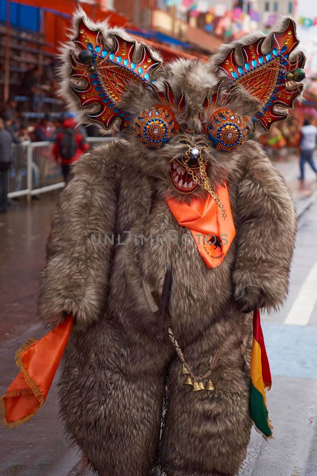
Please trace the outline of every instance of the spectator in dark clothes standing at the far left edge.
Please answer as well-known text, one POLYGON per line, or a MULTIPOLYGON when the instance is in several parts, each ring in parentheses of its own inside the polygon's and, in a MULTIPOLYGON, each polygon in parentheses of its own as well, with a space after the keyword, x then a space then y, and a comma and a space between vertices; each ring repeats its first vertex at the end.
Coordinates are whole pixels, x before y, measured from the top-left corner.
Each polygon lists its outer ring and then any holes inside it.
POLYGON ((8 171, 12 162, 12 135, 0 118, 0 213, 8 211, 8 171))

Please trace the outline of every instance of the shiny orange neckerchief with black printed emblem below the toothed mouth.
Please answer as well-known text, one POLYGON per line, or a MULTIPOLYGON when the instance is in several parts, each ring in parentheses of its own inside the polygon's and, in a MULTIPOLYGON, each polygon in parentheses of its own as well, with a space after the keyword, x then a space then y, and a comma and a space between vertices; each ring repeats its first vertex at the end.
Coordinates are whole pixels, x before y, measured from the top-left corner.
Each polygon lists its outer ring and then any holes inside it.
POLYGON ((218 185, 216 193, 226 211, 226 219, 222 218, 217 204, 210 194, 206 199, 193 197, 190 205, 174 198, 166 199, 167 205, 178 223, 192 232, 198 251, 207 268, 215 268, 222 263, 236 234, 227 185, 218 185), (221 246, 217 246, 220 245, 218 241, 214 244, 211 243, 214 240, 213 236, 220 238, 221 246))

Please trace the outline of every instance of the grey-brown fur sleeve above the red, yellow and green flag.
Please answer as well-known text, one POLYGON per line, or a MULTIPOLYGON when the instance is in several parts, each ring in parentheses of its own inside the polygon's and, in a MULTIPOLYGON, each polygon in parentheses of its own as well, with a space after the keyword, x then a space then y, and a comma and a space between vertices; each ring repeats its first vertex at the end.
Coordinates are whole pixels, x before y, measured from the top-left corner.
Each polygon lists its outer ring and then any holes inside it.
POLYGON ((233 273, 235 297, 247 289, 250 308, 279 307, 288 292, 297 229, 294 201, 284 179, 254 143, 238 192, 238 251, 233 273))

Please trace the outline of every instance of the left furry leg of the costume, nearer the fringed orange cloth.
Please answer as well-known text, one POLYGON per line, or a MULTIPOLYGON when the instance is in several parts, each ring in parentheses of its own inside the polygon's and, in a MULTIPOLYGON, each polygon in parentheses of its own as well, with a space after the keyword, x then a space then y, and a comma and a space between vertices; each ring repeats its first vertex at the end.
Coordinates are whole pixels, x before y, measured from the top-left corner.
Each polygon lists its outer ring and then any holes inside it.
POLYGON ((99 476, 150 476, 158 465, 165 365, 156 345, 135 346, 113 319, 70 338, 61 414, 99 476))

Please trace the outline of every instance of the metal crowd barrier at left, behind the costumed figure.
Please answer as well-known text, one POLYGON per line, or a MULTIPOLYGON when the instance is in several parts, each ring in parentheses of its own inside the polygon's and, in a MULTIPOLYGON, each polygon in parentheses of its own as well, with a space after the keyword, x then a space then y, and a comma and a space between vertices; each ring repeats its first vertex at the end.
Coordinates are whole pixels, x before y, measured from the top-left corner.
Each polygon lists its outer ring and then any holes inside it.
MULTIPOLYGON (((87 142, 92 146, 113 137, 87 137, 87 142)), ((8 197, 27 196, 28 201, 32 195, 49 192, 65 187, 61 169, 53 156, 54 143, 29 142, 13 144, 13 161, 9 173, 8 197)))

